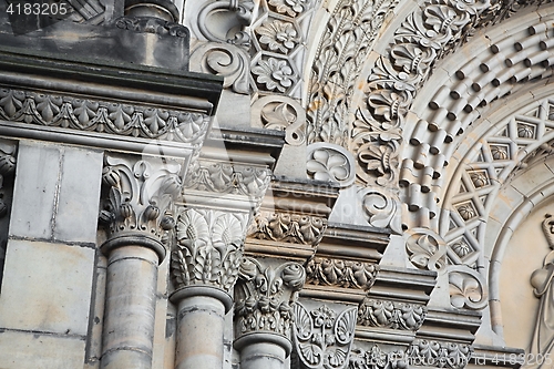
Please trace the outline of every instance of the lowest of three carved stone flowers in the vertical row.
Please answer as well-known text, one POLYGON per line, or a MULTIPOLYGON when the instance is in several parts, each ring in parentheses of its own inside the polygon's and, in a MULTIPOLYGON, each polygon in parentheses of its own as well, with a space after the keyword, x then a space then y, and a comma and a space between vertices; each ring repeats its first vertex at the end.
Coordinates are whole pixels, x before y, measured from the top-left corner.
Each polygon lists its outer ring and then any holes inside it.
POLYGON ((269 58, 268 60, 259 60, 258 65, 252 69, 252 72, 258 78, 256 81, 265 84, 268 91, 285 92, 296 82, 296 76, 293 69, 286 60, 269 58))

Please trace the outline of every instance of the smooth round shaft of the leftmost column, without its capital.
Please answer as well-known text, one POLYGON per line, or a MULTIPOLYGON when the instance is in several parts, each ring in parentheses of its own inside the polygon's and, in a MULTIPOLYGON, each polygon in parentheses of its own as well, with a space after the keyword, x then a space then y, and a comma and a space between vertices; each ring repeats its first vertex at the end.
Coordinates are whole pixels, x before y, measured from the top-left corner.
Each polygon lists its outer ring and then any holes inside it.
POLYGON ((152 368, 157 262, 141 246, 110 254, 102 368, 152 368))

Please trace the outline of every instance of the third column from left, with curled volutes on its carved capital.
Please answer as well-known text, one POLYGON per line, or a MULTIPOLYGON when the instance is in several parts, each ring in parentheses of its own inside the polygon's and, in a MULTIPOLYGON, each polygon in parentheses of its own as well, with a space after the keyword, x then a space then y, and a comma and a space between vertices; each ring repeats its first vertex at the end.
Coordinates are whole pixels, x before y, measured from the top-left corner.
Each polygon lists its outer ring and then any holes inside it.
POLYGON ((305 280, 298 263, 266 266, 252 257, 243 259, 235 289, 235 348, 240 351, 242 369, 285 368, 293 347, 291 303, 305 280))

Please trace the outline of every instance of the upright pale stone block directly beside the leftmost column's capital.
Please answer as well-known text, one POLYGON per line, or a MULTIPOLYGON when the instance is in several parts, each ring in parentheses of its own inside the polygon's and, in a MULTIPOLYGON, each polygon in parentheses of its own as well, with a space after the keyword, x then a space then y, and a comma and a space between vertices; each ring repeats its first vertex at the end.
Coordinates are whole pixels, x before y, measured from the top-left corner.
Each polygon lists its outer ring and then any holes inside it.
POLYGON ((103 154, 64 147, 54 238, 94 243, 100 204, 103 154))

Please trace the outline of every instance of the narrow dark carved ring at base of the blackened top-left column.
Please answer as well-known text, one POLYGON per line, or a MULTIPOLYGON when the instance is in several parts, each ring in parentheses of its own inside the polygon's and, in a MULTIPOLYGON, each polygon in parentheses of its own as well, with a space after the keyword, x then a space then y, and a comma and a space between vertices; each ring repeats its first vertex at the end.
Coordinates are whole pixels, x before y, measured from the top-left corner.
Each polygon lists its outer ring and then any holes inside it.
POLYGON ((163 19, 152 17, 122 17, 114 21, 115 27, 143 33, 155 33, 160 35, 172 35, 176 38, 189 39, 188 29, 182 24, 168 22, 163 19))

